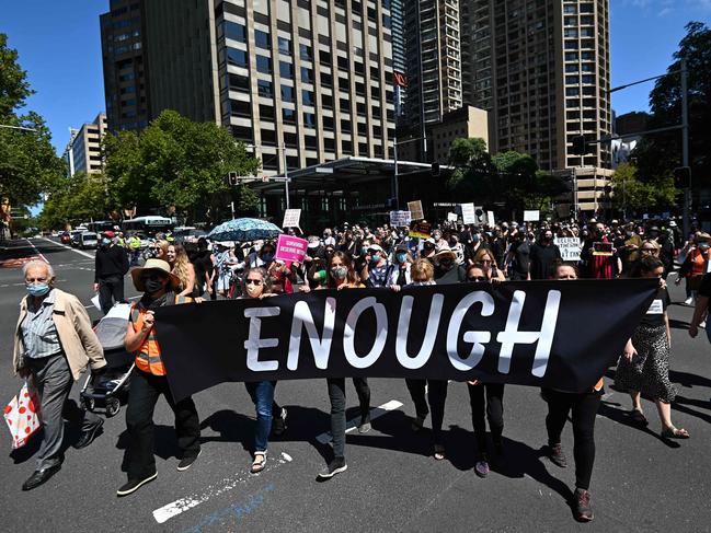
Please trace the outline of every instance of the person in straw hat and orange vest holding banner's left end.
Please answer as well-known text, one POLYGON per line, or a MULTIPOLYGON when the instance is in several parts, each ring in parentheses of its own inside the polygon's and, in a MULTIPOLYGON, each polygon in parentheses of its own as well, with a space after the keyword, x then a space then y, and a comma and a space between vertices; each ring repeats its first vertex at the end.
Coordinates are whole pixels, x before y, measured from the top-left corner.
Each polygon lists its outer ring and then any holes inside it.
POLYGON ((175 415, 177 447, 182 452, 177 471, 190 468, 200 453, 197 409, 190 396, 180 402, 173 399, 156 336, 156 327, 160 326, 156 325, 153 314, 159 308, 187 303, 193 299, 176 294, 180 278, 162 259, 148 259, 142 268, 134 268, 130 275, 136 290, 144 296, 131 305, 124 339, 126 351, 136 354, 136 367, 130 376, 126 408, 128 482, 116 491, 119 497, 135 493, 158 477, 153 456, 153 410, 161 395, 175 415))

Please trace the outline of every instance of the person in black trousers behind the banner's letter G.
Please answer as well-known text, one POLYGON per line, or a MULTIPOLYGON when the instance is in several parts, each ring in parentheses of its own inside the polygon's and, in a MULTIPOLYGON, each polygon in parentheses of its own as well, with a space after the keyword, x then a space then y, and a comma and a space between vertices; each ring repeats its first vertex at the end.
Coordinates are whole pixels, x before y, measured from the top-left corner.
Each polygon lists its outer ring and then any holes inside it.
MULTIPOLYGON (((467 269, 467 282, 491 283, 491 266, 484 266, 481 263, 471 265, 467 269)), ((469 405, 471 406, 471 425, 479 451, 474 472, 479 477, 486 477, 490 470, 484 414, 489 419, 494 451, 501 455, 504 452, 502 440, 504 432, 504 384, 483 383, 474 380, 467 382, 467 391, 469 392, 469 405)))

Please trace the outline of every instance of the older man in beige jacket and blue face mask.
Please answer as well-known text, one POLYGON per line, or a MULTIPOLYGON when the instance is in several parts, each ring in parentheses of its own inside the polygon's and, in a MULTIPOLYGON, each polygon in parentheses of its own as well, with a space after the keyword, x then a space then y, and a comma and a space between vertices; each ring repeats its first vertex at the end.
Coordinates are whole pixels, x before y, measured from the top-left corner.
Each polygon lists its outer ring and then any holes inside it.
MULTIPOLYGON (((87 310, 79 299, 54 288, 51 266, 33 260, 24 266, 23 273, 27 296, 20 303, 13 366, 15 374, 32 376, 39 394, 39 415, 44 425, 36 470, 22 485, 23 490, 32 490, 61 468, 61 410, 72 383, 87 366, 92 373, 100 373, 106 361, 87 310)), ((101 418, 84 412, 81 437, 74 448, 89 445, 102 425, 101 418)))

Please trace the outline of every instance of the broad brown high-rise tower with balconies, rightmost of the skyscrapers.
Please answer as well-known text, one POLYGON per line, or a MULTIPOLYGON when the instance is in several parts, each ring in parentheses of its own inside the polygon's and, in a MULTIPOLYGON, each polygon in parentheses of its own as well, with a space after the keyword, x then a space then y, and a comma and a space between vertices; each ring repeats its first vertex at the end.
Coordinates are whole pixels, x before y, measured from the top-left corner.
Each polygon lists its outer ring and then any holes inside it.
POLYGON ((529 153, 550 171, 586 167, 601 190, 609 144, 581 157, 572 141, 611 131, 608 0, 469 0, 461 21, 465 101, 490 112, 492 151, 529 153))

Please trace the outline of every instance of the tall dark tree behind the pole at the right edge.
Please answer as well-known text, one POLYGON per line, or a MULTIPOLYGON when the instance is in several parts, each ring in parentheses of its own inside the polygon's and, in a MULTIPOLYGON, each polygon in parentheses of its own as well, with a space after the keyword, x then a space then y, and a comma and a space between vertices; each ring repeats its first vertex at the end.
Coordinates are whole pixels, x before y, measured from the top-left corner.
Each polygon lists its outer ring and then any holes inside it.
MULTIPOLYGON (((691 174, 695 186, 711 185, 711 30, 701 22, 690 22, 687 34, 674 54, 667 72, 680 69, 686 58, 689 95, 689 140, 691 174)), ((650 129, 681 123, 681 85, 679 74, 660 78, 650 94, 650 129)), ((639 179, 657 181, 681 165, 681 132, 654 134, 642 139, 634 150, 639 179)))

